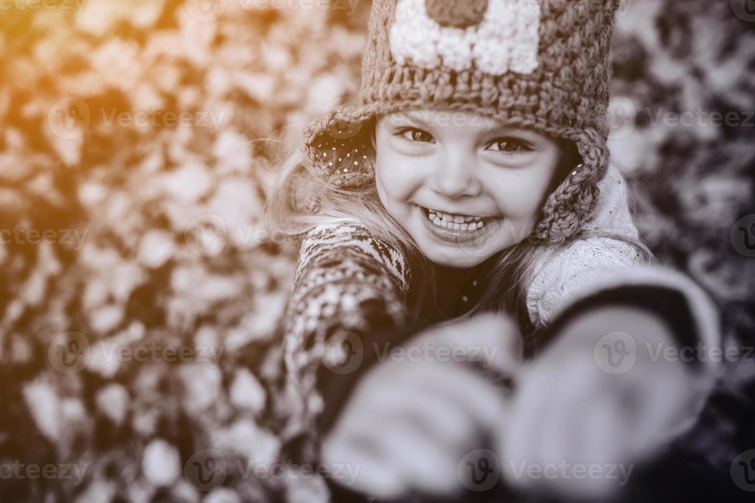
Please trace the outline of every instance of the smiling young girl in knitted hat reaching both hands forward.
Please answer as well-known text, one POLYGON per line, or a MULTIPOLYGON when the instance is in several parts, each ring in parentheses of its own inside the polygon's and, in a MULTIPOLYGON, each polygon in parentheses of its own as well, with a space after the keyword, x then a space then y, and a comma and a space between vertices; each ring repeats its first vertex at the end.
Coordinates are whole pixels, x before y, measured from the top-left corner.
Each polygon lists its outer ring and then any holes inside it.
POLYGON ((303 238, 288 435, 358 466, 350 492, 481 490, 493 452, 485 489, 606 495, 610 477, 516 468, 630 464, 695 421, 713 367, 648 348, 715 345, 716 317, 646 263, 609 167, 616 8, 375 0, 361 105, 307 128, 268 207, 303 238))

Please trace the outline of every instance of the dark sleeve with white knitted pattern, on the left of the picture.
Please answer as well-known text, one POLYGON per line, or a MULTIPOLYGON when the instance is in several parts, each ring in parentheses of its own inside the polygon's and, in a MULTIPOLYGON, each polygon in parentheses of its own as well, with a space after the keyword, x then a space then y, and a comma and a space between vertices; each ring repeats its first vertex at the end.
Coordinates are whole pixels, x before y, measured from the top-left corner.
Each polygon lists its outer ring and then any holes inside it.
POLYGON ((287 386, 302 398, 305 428, 322 413, 321 364, 345 356, 331 348, 351 334, 398 332, 407 288, 404 256, 361 224, 319 225, 307 234, 284 321, 287 386))

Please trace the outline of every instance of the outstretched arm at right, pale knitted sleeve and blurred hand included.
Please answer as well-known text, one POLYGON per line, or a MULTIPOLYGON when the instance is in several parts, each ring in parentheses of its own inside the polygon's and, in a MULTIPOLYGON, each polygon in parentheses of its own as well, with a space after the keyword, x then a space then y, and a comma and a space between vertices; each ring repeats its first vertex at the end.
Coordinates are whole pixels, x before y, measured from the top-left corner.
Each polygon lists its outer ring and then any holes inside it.
POLYGON ((519 375, 500 444, 525 468, 625 469, 624 478, 553 480, 504 471, 512 486, 580 498, 615 494, 635 463, 692 428, 720 369, 720 359, 706 356, 720 350, 713 302, 631 244, 637 231, 615 170, 602 182, 592 225, 593 237, 553 250, 529 287, 529 315, 542 337, 519 375))

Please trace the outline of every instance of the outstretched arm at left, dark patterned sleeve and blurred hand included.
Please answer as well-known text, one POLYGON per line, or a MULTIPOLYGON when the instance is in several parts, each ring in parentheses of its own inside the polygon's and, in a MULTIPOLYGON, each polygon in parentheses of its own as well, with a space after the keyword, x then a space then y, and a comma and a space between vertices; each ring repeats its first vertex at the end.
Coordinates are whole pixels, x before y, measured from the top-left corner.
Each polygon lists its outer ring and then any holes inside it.
POLYGON ((290 427, 313 440, 303 462, 334 470, 334 501, 463 490, 459 462, 489 446, 505 416, 507 397, 480 370, 516 367, 516 327, 480 315, 412 334, 404 271, 402 256, 361 225, 320 226, 301 248, 285 364, 304 410, 290 427))

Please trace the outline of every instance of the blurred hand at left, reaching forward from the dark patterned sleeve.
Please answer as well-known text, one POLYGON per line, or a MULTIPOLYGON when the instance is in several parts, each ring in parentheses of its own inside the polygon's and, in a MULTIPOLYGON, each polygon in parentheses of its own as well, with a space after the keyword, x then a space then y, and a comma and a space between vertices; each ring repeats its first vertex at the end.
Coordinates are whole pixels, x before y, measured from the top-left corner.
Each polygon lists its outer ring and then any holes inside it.
POLYGON ((358 469, 347 485, 368 496, 461 490, 459 462, 489 447, 484 438, 507 410, 501 388, 467 360, 510 373, 518 344, 513 324, 490 314, 414 337, 402 347, 421 348, 423 357, 388 357, 362 377, 323 443, 322 461, 358 469))

